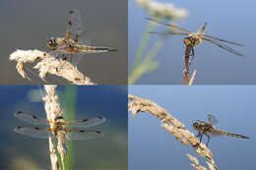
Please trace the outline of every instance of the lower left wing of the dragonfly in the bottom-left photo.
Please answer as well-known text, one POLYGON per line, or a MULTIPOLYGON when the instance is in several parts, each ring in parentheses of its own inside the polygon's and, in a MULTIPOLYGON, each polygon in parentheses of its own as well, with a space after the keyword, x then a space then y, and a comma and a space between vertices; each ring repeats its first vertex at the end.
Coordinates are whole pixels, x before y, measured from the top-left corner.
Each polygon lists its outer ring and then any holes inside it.
POLYGON ((23 134, 32 138, 47 139, 48 137, 54 137, 51 131, 47 128, 37 127, 16 127, 14 130, 16 133, 23 134))

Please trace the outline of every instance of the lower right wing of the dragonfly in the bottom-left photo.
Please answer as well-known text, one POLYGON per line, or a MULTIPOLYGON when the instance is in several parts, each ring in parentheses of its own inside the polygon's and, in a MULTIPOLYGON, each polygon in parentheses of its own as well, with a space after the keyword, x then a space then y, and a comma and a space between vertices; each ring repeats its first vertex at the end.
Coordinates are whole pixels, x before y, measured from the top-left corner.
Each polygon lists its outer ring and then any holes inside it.
POLYGON ((92 140, 99 137, 102 137, 103 134, 100 131, 96 130, 78 130, 73 129, 67 133, 67 139, 71 141, 85 141, 92 140))

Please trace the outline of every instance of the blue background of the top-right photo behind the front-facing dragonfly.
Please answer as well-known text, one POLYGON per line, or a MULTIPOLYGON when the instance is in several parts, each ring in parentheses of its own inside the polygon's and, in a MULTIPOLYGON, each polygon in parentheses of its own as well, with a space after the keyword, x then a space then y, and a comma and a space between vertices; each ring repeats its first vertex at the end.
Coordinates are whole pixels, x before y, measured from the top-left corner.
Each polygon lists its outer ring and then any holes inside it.
MULTIPOLYGON (((198 71, 195 84, 256 84, 255 1, 158 0, 158 2, 170 2, 175 7, 184 8, 189 12, 189 17, 178 23, 183 28, 197 31, 207 22, 209 24, 207 34, 245 45, 244 47, 229 45, 244 54, 245 59, 208 42, 197 46, 196 59, 191 66, 191 71, 195 69, 198 71)), ((129 68, 140 44, 142 33, 148 25, 145 17, 149 17, 149 14, 134 0, 129 1, 129 68)), ((165 30, 165 28, 159 26, 156 30, 165 30)), ((156 40, 157 36, 152 36, 148 50, 156 40)), ((143 76, 137 84, 182 84, 184 50, 183 37, 169 37, 156 57, 160 62, 159 70, 143 76)))

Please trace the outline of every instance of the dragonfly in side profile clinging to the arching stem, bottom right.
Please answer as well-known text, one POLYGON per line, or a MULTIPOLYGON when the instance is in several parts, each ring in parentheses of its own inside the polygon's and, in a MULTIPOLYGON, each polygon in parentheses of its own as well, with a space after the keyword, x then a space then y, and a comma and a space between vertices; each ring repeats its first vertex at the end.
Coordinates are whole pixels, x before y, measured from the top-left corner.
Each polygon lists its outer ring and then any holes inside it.
MULTIPOLYGON (((205 135, 208 138, 208 142, 206 143, 206 145, 208 145, 210 141, 210 136, 228 136, 228 137, 234 137, 234 138, 240 138, 240 139, 249 139, 249 137, 245 137, 237 134, 231 134, 223 130, 220 130, 214 127, 214 124, 216 123, 217 123, 217 119, 210 114, 208 114, 208 122, 197 120, 195 123, 193 123, 193 128, 198 132, 198 135, 196 137, 200 137, 200 142, 202 141, 203 135, 205 135)), ((200 144, 200 142, 198 144, 200 144)))

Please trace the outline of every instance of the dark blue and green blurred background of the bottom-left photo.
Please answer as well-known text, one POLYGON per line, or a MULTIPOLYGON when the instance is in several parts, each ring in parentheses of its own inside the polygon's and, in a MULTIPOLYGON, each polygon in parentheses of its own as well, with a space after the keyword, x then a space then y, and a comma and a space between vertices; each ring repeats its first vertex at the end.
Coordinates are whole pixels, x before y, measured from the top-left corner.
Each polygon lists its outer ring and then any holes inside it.
MULTIPOLYGON (((0 169, 50 169, 48 140, 33 139, 13 131, 16 126, 31 126, 16 119, 13 116, 16 111, 46 117, 40 101, 42 91, 42 85, 0 85, 0 169)), ((100 115, 107 120, 90 128, 102 131, 103 138, 71 143, 73 147, 68 152, 72 155, 71 164, 66 167, 127 169, 127 86, 60 85, 56 91, 65 119, 100 115)))

